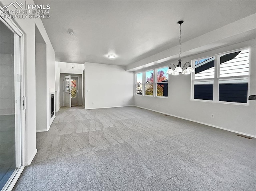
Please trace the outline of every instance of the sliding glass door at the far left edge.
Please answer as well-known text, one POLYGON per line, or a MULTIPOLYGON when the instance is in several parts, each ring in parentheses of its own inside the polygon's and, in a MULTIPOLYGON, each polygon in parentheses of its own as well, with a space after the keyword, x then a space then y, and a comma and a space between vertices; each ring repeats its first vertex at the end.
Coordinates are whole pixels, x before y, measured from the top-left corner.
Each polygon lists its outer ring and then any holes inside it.
POLYGON ((22 160, 20 35, 0 20, 0 190, 10 189, 22 160))

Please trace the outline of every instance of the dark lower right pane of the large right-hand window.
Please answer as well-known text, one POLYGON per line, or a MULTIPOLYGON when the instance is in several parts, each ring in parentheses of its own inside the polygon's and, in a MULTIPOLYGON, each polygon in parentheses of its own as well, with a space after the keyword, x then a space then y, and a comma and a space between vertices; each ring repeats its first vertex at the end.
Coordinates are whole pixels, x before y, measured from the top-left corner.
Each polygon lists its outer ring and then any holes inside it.
POLYGON ((247 103, 248 79, 219 81, 219 101, 247 103))

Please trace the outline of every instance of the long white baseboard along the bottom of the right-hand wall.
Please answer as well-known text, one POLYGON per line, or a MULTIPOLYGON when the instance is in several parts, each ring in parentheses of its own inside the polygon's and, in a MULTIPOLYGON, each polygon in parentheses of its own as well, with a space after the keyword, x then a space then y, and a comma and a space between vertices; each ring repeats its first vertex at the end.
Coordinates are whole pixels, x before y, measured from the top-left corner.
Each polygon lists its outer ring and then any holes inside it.
POLYGON ((244 132, 239 132, 239 131, 235 131, 235 130, 232 130, 232 129, 227 129, 227 128, 219 127, 219 126, 216 126, 216 125, 212 125, 212 124, 208 124, 208 123, 204 123, 204 122, 200 122, 200 121, 196 121, 196 120, 192 120, 192 119, 188 119, 188 118, 172 115, 172 114, 165 113, 165 112, 160 112, 160 111, 149 109, 149 108, 144 108, 144 107, 137 106, 137 105, 134 105, 134 106, 139 107, 139 108, 143 108, 143 109, 147 109, 147 110, 150 110, 150 111, 154 111, 154 112, 170 115, 170 116, 173 116, 173 117, 181 118, 181 119, 184 119, 184 120, 200 123, 200 124, 203 124, 203 125, 215 127, 215 128, 218 128, 218 129, 223 129, 223 130, 230 131, 230 132, 233 132, 233 133, 237 133, 237 134, 241 134, 241 135, 245 135, 245 136, 256 138, 256 135, 251 135, 251 134, 247 134, 247 133, 244 133, 244 132))

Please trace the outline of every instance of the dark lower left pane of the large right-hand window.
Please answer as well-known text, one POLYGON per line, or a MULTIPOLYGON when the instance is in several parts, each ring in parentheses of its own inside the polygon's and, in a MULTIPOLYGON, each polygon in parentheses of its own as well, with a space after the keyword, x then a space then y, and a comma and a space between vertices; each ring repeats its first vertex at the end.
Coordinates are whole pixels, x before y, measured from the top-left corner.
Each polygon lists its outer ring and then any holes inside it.
POLYGON ((213 81, 194 82, 194 99, 213 100, 213 81))

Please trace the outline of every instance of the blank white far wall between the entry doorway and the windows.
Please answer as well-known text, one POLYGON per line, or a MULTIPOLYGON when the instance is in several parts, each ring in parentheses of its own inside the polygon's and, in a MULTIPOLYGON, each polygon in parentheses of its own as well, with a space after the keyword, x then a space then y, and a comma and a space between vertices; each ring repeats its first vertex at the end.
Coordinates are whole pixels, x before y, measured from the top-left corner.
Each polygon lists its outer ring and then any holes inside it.
POLYGON ((85 63, 84 76, 86 109, 134 104, 133 72, 116 65, 85 63))

